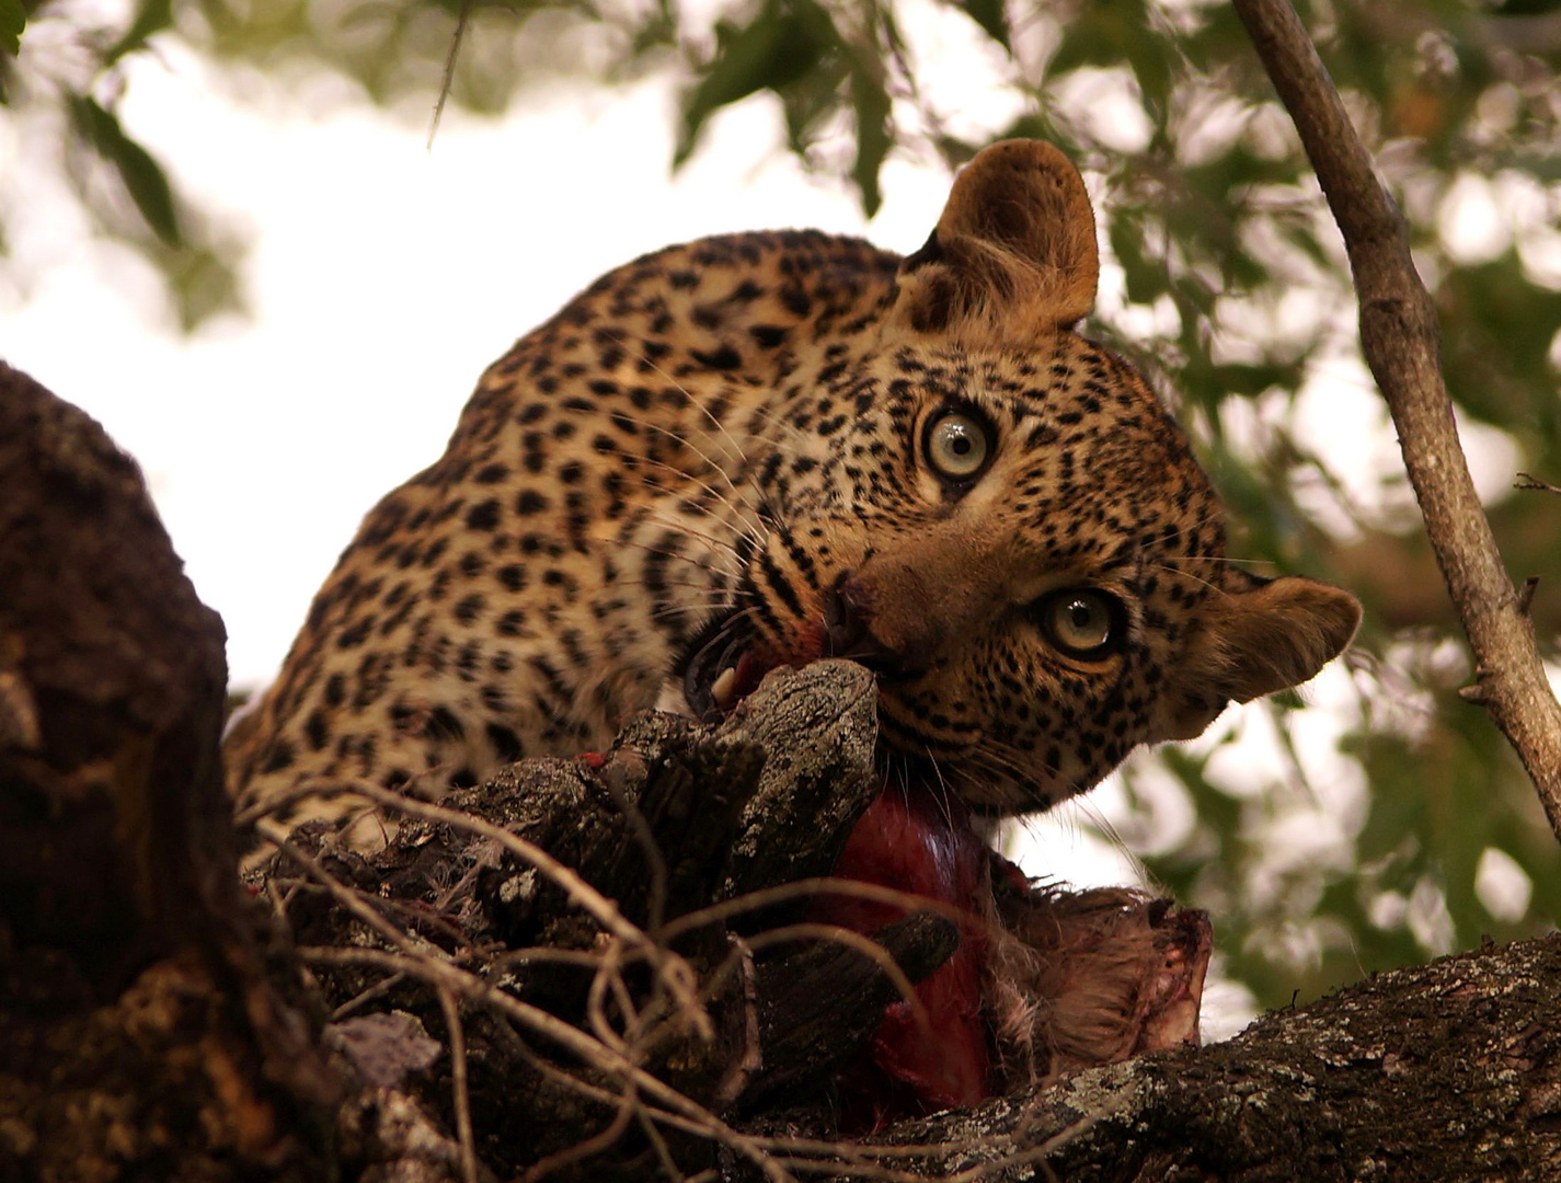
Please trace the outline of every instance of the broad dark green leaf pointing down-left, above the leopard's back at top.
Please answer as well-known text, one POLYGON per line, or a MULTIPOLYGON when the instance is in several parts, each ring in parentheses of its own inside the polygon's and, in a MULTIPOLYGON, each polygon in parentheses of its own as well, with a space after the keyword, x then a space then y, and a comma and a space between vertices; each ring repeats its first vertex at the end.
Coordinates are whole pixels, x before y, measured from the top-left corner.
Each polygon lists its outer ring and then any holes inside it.
POLYGON ((673 167, 688 159, 706 122, 723 106, 756 91, 779 94, 818 69, 832 34, 829 16, 816 6, 779 0, 766 3, 746 27, 718 25, 715 56, 684 101, 673 167))

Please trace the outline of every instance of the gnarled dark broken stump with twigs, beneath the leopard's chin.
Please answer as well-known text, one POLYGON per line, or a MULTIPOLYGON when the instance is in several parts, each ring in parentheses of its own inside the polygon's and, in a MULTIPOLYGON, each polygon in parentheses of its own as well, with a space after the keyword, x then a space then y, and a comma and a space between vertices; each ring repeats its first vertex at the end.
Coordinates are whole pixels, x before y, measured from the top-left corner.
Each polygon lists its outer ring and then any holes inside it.
MULTIPOLYGON (((370 855, 339 851, 326 832, 303 827, 292 849, 258 874, 286 899, 284 921, 339 1013, 389 1011, 414 1032, 448 1038, 437 993, 448 971, 418 965, 420 950, 387 940, 386 924, 426 943, 421 952, 436 960, 450 955, 504 982, 518 1007, 487 1011, 468 993, 473 1005, 462 1019, 475 1139, 493 1169, 567 1160, 587 1133, 610 1128, 629 1063, 707 1114, 771 1100, 796 1105, 807 1091, 826 1094, 830 1074, 873 1033, 901 986, 880 961, 816 933, 745 954, 746 941, 763 944, 777 925, 795 922, 810 893, 771 893, 762 907, 748 907, 735 885, 757 891, 829 872, 877 791, 873 715, 871 676, 857 665, 780 671, 720 726, 646 715, 612 752, 515 765, 404 819, 395 840, 370 855), (801 810, 813 813, 810 824, 799 824, 801 810), (649 944, 635 946, 584 911, 570 885, 539 874, 492 832, 473 827, 475 819, 546 849, 617 901, 623 921, 685 958, 709 1025, 679 1021, 667 977, 677 971, 652 972, 649 944), (361 893, 357 910, 343 905, 343 891, 353 890, 361 893), (404 958, 404 979, 387 982, 386 969, 395 966, 361 950, 404 958), (559 952, 573 957, 559 963, 559 952), (603 982, 617 991, 607 1005, 593 994, 603 982), (615 1008, 621 997, 632 997, 638 1021, 615 1008), (617 1058, 609 1041, 587 1049, 582 1071, 557 1057, 543 1016, 579 1032, 610 1021, 623 1030, 626 1057, 617 1058)), ((949 957, 958 936, 952 921, 915 913, 877 943, 915 982, 949 957)), ((376 1035, 376 1058, 387 1041, 376 1035)), ((442 1061, 409 1086, 453 1117, 451 1068, 442 1061)), ((665 1138, 684 1169, 713 1161, 716 1139, 665 1138)), ((652 1153, 629 1131, 587 1164, 560 1163, 559 1171, 640 1178, 654 1172, 652 1153)))

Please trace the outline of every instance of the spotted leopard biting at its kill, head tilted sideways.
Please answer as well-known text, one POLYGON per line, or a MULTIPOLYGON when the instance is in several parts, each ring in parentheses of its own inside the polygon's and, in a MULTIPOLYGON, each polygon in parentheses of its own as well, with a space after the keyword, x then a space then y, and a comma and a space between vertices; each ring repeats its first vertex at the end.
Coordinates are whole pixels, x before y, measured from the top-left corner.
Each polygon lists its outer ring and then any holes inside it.
POLYGON ((882 760, 1002 818, 1311 679, 1357 599, 1227 560, 1186 435, 1080 331, 1099 270, 1079 170, 1004 140, 905 256, 788 229, 609 272, 364 518, 231 729, 237 807, 373 821, 354 785, 437 799, 834 657, 882 760))

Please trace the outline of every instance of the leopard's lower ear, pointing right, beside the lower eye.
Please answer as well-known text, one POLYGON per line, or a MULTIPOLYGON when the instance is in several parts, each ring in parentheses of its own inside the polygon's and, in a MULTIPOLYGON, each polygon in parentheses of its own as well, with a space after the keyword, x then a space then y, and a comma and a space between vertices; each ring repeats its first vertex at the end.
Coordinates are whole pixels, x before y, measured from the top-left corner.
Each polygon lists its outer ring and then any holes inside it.
POLYGON ((1163 698, 1160 734, 1191 740, 1225 702, 1300 685, 1344 652, 1361 621, 1349 592, 1314 579, 1260 581, 1205 599, 1163 698))

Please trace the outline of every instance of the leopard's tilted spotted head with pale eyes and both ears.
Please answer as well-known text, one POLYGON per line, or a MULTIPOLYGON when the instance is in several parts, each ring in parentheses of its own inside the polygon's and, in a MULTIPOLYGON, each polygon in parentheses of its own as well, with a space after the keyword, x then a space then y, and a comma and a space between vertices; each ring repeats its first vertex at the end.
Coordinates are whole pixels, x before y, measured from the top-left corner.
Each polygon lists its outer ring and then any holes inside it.
POLYGON ((1344 649, 1347 592, 1227 562, 1182 431, 1077 332, 1097 273, 1055 148, 997 144, 960 173, 871 331, 799 365, 759 476, 766 537, 741 609, 695 646, 690 702, 859 660, 885 757, 1012 813, 1344 649))

